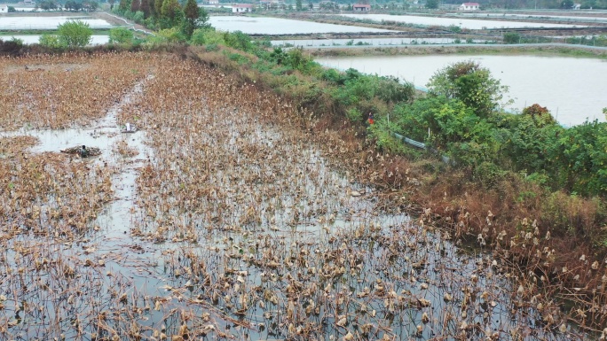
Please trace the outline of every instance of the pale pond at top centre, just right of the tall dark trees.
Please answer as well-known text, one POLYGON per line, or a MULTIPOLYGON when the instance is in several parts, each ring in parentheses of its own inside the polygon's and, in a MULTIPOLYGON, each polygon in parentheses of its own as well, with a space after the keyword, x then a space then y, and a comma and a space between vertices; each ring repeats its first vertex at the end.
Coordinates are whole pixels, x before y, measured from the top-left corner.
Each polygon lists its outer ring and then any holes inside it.
POLYGON ((312 21, 264 17, 213 16, 209 18, 209 23, 211 26, 222 31, 242 31, 248 35, 311 35, 319 33, 394 32, 381 28, 322 24, 312 21))

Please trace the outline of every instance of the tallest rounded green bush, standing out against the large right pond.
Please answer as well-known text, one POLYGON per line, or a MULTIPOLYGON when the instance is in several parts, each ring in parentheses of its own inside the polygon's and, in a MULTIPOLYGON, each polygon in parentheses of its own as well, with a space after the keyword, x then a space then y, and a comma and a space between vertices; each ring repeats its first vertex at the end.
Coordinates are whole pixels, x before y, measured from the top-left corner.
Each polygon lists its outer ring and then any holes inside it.
POLYGON ((487 117, 501 103, 508 87, 492 77, 489 69, 473 60, 453 63, 438 70, 427 84, 431 96, 457 98, 474 109, 480 117, 487 117))

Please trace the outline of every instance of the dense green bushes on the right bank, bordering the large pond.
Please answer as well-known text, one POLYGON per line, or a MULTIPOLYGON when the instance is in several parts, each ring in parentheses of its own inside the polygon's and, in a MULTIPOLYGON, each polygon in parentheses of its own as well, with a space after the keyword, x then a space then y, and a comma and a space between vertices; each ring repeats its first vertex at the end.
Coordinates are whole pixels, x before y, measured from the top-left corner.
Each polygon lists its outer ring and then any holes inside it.
MULTIPOLYGON (((518 115, 498 112, 503 88, 472 62, 447 66, 429 87, 428 97, 394 107, 391 116, 402 135, 428 143, 458 167, 469 167, 484 184, 494 179, 482 174, 487 169, 501 174, 494 171, 499 167, 530 174, 551 190, 607 195, 607 123, 563 128, 540 105, 518 115)), ((348 99, 359 100, 343 101, 348 99)))

